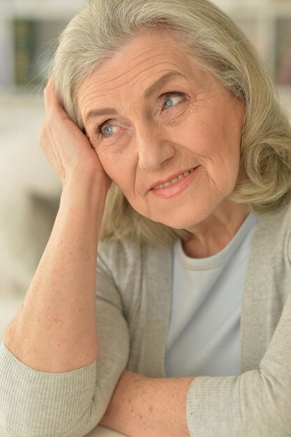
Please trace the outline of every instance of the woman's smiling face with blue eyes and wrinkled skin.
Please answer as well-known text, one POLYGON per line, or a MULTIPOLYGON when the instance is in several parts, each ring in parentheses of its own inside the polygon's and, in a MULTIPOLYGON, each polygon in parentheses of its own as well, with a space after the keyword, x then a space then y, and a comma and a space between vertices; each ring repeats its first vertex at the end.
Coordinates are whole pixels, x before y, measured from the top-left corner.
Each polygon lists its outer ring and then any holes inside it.
POLYGON ((77 102, 105 172, 143 216, 191 230, 232 193, 245 107, 165 31, 142 34, 105 61, 77 102), (97 114, 103 108, 112 112, 97 114), (151 188, 193 168, 171 193, 151 188))

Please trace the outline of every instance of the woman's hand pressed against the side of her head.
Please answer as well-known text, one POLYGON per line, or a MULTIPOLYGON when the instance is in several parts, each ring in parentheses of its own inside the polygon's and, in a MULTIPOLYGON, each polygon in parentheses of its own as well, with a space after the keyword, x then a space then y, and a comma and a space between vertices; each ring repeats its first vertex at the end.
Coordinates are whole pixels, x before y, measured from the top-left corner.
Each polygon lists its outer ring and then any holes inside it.
POLYGON ((38 144, 57 171, 63 188, 72 178, 80 178, 88 172, 100 172, 105 186, 110 188, 112 179, 105 173, 95 149, 61 108, 53 77, 50 77, 43 94, 45 120, 40 129, 38 144))

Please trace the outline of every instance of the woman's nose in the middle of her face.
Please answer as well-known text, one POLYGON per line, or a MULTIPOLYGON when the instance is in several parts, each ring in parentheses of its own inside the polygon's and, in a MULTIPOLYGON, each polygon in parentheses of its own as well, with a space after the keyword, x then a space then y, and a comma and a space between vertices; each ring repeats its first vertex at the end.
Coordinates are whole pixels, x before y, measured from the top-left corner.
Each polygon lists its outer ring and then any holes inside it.
POLYGON ((165 130, 153 124, 139 123, 135 128, 138 165, 144 170, 159 170, 175 154, 165 130))

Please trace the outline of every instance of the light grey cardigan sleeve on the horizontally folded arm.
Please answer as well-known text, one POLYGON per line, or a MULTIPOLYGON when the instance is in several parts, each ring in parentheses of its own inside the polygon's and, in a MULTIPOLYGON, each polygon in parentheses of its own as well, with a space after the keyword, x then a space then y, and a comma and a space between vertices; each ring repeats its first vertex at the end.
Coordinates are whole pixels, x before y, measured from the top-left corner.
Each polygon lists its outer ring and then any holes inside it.
POLYGON ((291 430, 291 293, 260 369, 198 376, 186 399, 191 437, 287 437, 291 430))

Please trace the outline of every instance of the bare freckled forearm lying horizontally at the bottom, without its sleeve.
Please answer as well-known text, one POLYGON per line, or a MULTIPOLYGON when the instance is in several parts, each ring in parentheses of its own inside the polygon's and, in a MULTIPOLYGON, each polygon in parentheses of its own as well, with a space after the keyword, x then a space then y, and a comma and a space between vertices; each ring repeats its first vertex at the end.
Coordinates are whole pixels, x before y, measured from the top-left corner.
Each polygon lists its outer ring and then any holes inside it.
POLYGON ((124 371, 99 423, 130 437, 189 437, 186 398, 193 379, 124 371))

